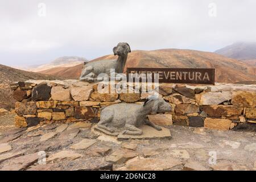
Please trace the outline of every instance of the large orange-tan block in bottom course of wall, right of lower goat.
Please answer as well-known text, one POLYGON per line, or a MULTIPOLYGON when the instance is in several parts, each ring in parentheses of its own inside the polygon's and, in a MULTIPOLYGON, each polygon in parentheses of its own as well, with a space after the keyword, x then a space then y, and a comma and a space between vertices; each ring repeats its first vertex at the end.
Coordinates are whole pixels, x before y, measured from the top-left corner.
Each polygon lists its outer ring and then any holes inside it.
POLYGON ((229 119, 212 119, 212 118, 205 118, 204 119, 204 127, 208 129, 217 129, 227 131, 230 128, 230 124, 232 121, 229 119))

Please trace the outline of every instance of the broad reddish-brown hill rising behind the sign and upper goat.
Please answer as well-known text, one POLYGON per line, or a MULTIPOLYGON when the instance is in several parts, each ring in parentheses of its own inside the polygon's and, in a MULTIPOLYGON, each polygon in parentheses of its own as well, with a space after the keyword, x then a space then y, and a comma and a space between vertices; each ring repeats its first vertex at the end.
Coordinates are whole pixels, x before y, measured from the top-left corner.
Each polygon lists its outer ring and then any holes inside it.
MULTIPOLYGON (((106 55, 97 60, 117 59, 117 56, 106 55)), ((216 68, 216 82, 239 82, 256 80, 255 68, 212 52, 184 49, 159 49, 155 51, 132 51, 129 53, 126 67, 159 67, 159 68, 216 68)), ((81 65, 73 68, 62 68, 60 72, 50 69, 50 75, 79 78, 81 65), (68 74, 67 74, 68 72, 68 74)))

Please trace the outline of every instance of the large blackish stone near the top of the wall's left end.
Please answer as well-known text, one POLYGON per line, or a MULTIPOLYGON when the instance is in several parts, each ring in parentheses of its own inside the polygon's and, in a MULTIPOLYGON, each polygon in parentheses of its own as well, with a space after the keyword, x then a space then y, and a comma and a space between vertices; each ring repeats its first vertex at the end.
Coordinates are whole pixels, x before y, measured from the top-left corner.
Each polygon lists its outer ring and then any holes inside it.
POLYGON ((51 97, 51 89, 47 84, 36 85, 32 89, 32 101, 48 101, 51 97))

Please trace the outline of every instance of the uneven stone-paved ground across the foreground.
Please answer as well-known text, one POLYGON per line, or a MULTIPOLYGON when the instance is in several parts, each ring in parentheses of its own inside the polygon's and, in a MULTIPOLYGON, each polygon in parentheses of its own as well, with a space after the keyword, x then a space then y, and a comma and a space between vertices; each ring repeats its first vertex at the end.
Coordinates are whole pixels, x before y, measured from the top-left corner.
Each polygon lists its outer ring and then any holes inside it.
POLYGON ((168 129, 171 139, 119 142, 93 133, 88 123, 6 125, 0 127, 0 170, 256 169, 256 133, 168 129))

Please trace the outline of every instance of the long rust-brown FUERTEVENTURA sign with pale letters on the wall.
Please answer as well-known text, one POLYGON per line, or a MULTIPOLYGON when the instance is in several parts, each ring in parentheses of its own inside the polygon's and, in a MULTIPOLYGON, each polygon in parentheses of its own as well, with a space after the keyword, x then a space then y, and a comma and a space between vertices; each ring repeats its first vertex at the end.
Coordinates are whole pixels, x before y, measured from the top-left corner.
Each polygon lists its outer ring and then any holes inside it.
POLYGON ((146 77, 158 73, 159 82, 180 84, 212 84, 214 85, 214 68, 127 68, 127 78, 130 73, 146 77))

